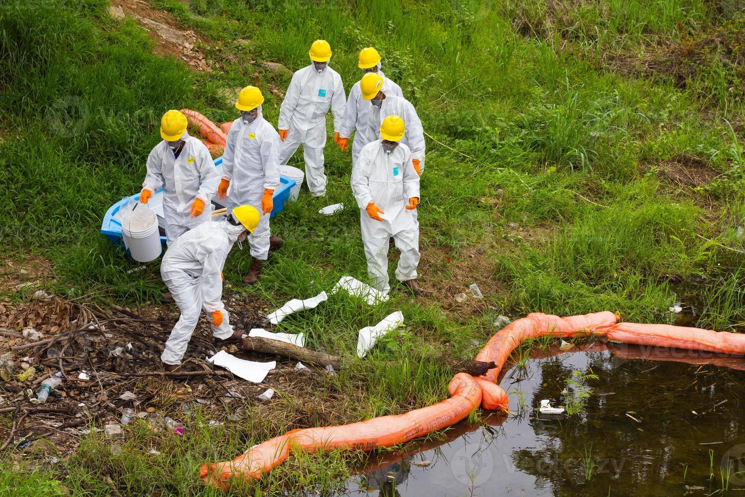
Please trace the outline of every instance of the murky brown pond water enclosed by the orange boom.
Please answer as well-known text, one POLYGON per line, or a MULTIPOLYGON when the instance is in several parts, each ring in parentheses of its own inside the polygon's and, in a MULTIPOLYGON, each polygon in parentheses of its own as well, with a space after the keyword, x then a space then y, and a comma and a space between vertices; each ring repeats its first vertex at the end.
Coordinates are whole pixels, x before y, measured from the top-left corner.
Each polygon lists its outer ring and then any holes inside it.
POLYGON ((373 455, 346 495, 745 495, 745 359, 656 350, 649 360, 648 350, 610 347, 535 353, 557 355, 501 378, 510 416, 373 455), (597 375, 581 414, 538 419, 541 399, 565 403, 576 370, 597 375))

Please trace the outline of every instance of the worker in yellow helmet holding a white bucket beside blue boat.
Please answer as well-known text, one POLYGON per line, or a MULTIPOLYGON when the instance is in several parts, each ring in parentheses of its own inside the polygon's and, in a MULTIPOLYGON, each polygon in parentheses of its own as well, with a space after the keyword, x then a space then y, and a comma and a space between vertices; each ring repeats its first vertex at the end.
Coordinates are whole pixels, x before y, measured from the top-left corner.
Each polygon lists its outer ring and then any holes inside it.
POLYGON ((212 218, 212 195, 220 175, 206 146, 186 131, 186 115, 169 110, 160 120, 163 141, 148 156, 139 201, 163 189, 165 236, 170 246, 189 229, 212 218))

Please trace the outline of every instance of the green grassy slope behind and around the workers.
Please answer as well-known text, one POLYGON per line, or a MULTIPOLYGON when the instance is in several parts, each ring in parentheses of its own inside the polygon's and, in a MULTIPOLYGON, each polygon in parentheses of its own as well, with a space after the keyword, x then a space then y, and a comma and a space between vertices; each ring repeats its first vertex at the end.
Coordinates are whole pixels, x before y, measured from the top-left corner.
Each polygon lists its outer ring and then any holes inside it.
MULTIPOLYGON (((729 69, 705 66, 683 88, 664 76, 641 80, 603 70, 607 54, 641 54, 717 25, 720 14, 706 2, 614 1, 600 9, 590 2, 548 8, 537 0, 457 7, 377 1, 352 10, 321 1, 312 8, 299 1, 254 8, 153 1, 211 40, 202 48, 218 69, 198 75, 151 55, 148 36, 131 21, 109 19, 102 1, 66 9, 24 3, 0 7, 0 186, 10 200, 0 205, 0 242, 21 256, 51 259, 53 289, 116 301, 143 302, 161 291, 156 265, 126 273, 138 265, 104 241, 98 226, 104 206, 138 189, 163 110, 191 107, 215 121, 232 119, 224 89, 254 77, 264 88, 289 82, 253 60, 298 69, 318 37, 331 42, 332 65, 347 87, 360 76, 359 48, 381 51, 384 72, 402 85, 433 138, 422 178, 421 273, 425 285, 441 291, 425 303, 397 297, 378 308, 333 297, 282 323, 279 331, 303 331, 311 346, 349 353, 361 326, 404 312, 406 331, 384 341, 370 364, 329 385, 332 392, 361 392, 341 419, 442 399, 448 375, 417 358, 442 349, 472 356, 499 313, 609 309, 627 320, 665 321, 679 282, 691 280, 697 285, 686 298, 710 309, 703 325, 726 329, 745 318, 741 257, 721 247, 735 246, 745 213, 741 145, 726 121, 737 120, 742 103, 727 92, 729 69), (49 22, 38 25, 39 18, 49 22), (61 110, 68 121, 60 121, 61 110), (700 189, 662 180, 665 165, 685 156, 703 159, 720 176, 700 189), (466 265, 475 250, 483 254, 479 265, 466 265), (483 315, 440 309, 438 300, 449 300, 452 288, 463 291, 473 281, 488 282, 492 308, 483 315), (375 369, 381 361, 401 365, 375 369)), ((267 95, 264 115, 273 123, 280 103, 267 95)), ((331 145, 329 197, 302 195, 288 205, 273 223, 287 244, 261 285, 233 283, 231 291, 281 304, 328 290, 342 275, 364 279, 356 210, 315 214, 326 203, 354 205, 349 153, 331 145)), ((233 254, 227 280, 239 281, 249 263, 247 254, 233 254)), ((200 461, 232 457, 288 427, 261 420, 233 433, 204 428, 155 461, 142 449, 145 439, 136 439, 127 443, 126 464, 92 440, 69 467, 71 481, 81 482, 72 485, 107 493, 104 474, 133 493, 151 493, 150 484, 188 492, 200 461), (172 478, 162 481, 166 473, 172 478)), ((307 474, 288 469, 263 485, 307 474)))

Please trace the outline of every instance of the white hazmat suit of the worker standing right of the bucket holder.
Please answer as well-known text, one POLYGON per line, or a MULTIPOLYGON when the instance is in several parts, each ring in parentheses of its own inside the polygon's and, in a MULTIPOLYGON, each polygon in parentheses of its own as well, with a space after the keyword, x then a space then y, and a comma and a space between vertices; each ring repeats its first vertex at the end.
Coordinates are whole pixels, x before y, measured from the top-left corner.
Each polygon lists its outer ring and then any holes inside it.
POLYGON ((259 226, 249 235, 251 256, 261 261, 269 256, 269 218, 261 212, 264 189, 279 188, 279 134, 261 115, 244 124, 233 121, 223 153, 223 178, 230 180, 227 213, 236 206, 250 205, 259 211, 259 226))

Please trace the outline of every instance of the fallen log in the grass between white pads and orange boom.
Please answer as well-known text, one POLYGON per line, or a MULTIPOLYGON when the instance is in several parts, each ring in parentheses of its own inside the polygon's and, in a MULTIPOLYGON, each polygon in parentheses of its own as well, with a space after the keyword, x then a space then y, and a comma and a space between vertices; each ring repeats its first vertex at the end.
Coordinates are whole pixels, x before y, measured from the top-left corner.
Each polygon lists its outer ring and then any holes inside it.
MULTIPOLYGON (((305 347, 288 344, 287 342, 272 340, 271 338, 244 337, 241 338, 241 349, 262 354, 279 355, 293 360, 315 364, 326 367, 331 365, 335 370, 340 370, 345 365, 345 359, 337 355, 317 352, 305 347)), ((447 355, 437 355, 425 358, 441 364, 444 368, 455 373, 469 373, 471 376, 482 376, 486 371, 496 367, 493 362, 472 361, 471 359, 451 358, 447 355)), ((347 360, 348 361, 348 360, 347 360)))

